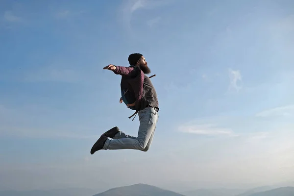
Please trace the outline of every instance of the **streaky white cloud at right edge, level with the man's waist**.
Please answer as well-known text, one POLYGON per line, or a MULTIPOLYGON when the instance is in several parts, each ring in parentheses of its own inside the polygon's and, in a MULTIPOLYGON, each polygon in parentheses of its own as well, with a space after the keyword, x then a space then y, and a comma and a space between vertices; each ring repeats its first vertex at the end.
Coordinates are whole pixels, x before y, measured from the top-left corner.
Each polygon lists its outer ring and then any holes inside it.
POLYGON ((272 117, 272 116, 294 116, 294 104, 283 107, 276 107, 269 110, 259 112, 256 117, 272 117))

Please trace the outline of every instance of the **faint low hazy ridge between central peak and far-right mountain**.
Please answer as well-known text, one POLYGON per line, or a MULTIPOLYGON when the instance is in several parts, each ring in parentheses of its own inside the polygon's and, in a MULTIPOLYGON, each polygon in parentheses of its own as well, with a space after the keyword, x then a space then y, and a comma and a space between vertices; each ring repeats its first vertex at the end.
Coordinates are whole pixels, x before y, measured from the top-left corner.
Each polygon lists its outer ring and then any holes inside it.
POLYGON ((244 192, 244 189, 196 189, 182 192, 182 194, 185 196, 236 196, 244 192))

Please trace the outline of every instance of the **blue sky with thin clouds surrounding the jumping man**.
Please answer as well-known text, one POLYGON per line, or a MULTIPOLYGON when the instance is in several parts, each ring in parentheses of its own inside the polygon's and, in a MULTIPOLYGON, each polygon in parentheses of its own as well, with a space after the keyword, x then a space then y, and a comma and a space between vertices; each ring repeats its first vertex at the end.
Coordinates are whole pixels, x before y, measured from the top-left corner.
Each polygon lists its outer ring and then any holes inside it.
POLYGON ((1 189, 294 178, 293 1, 0 3, 1 189), (153 144, 91 156, 113 126, 137 134, 120 76, 102 70, 133 52, 157 75, 153 144))

